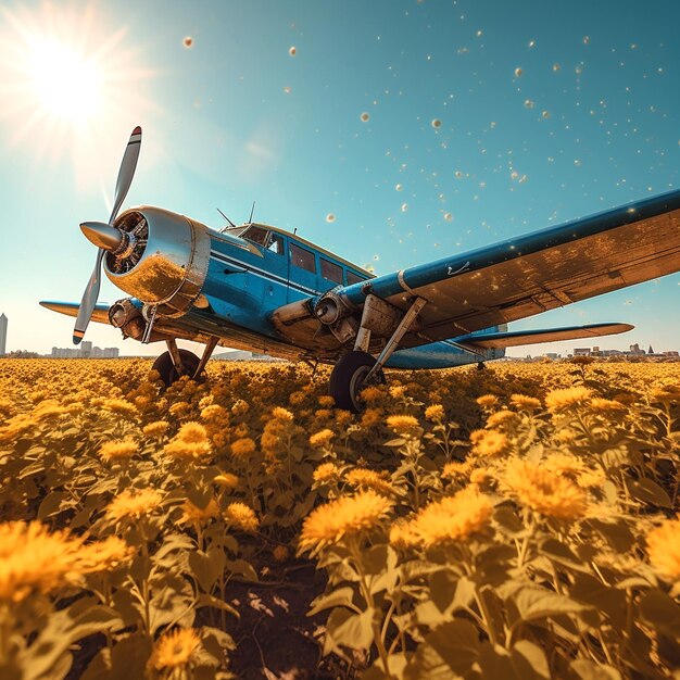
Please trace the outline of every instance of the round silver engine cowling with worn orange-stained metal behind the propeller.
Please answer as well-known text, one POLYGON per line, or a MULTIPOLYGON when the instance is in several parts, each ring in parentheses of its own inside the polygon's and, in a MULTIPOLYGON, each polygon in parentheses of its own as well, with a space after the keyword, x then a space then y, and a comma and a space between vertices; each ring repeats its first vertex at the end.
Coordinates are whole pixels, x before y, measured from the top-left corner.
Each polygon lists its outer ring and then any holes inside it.
POLYGON ((141 205, 122 213, 114 226, 123 240, 106 252, 109 280, 165 317, 182 316, 207 276, 207 227, 161 207, 141 205))

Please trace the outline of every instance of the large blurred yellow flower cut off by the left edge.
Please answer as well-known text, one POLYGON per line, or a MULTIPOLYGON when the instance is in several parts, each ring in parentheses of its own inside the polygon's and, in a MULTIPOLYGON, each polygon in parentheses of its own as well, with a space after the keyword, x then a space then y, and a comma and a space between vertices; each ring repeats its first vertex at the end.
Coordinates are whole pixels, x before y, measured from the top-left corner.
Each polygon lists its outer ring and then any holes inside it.
POLYGON ((85 570, 77 557, 81 544, 39 521, 0 524, 0 601, 21 602, 77 582, 85 570))

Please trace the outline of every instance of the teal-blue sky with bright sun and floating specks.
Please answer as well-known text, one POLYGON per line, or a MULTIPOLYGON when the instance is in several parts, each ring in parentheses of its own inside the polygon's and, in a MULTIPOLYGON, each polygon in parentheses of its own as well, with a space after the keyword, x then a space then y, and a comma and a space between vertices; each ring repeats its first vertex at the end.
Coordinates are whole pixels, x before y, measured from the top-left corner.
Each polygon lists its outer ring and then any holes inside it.
MULTIPOLYGON (((96 253, 78 224, 106 219, 137 124, 125 205, 221 227, 216 207, 240 223, 256 201, 255 219, 377 274, 678 188, 679 20, 671 0, 5 0, 8 349, 68 347, 72 319, 37 302, 79 301, 96 253)), ((513 328, 627 322, 601 345, 680 349, 679 286, 513 328)), ((121 297, 104 279, 100 300, 121 297)), ((159 351, 97 324, 88 339, 159 351)))

